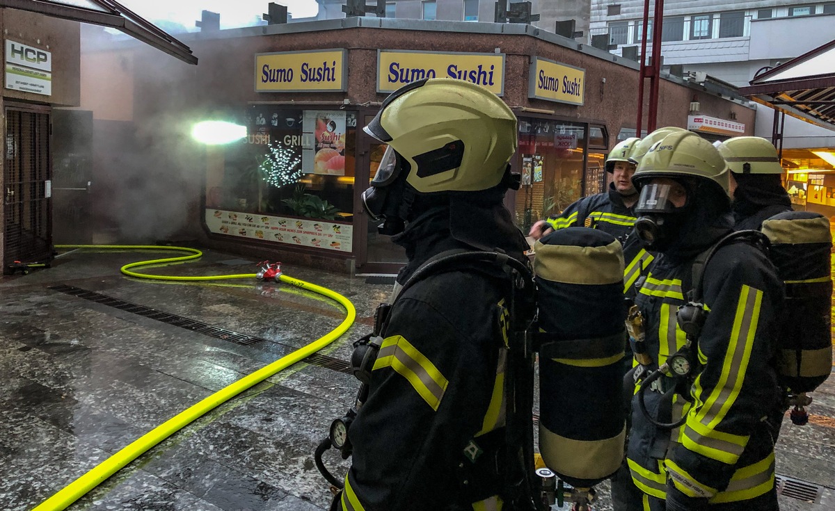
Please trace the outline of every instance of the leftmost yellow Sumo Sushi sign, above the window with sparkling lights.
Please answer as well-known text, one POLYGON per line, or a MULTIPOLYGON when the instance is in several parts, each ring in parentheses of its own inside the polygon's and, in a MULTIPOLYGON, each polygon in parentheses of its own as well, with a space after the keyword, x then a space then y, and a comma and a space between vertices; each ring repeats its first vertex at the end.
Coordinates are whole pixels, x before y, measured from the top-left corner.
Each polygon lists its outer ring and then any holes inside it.
POLYGON ((256 92, 339 92, 346 78, 344 49, 256 53, 256 92))

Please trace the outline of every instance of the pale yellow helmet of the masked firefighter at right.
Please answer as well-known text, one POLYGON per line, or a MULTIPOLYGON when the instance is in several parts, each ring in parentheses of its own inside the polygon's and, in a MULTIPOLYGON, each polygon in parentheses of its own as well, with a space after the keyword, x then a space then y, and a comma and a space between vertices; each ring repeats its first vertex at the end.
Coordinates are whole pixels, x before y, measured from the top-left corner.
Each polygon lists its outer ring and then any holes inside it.
MULTIPOLYGON (((647 138, 653 135, 655 132, 647 138)), ((667 131, 660 139, 655 137, 655 144, 640 159, 632 182, 640 188, 655 177, 711 180, 728 195, 730 177, 725 159, 710 142, 685 129, 667 131)))

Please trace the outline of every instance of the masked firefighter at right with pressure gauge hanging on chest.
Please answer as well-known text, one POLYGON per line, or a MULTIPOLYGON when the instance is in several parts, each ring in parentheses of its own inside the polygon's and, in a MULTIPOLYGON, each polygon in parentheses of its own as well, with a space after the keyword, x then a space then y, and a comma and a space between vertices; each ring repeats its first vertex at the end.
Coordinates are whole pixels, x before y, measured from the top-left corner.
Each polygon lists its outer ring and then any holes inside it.
POLYGON ((761 248, 723 243, 701 272, 702 302, 688 305, 694 264, 733 228, 728 174, 716 148, 679 131, 653 144, 632 178, 635 229, 658 254, 635 298, 645 329, 635 351, 649 357, 627 448, 650 511, 777 509, 782 397, 770 361, 782 283, 761 248))

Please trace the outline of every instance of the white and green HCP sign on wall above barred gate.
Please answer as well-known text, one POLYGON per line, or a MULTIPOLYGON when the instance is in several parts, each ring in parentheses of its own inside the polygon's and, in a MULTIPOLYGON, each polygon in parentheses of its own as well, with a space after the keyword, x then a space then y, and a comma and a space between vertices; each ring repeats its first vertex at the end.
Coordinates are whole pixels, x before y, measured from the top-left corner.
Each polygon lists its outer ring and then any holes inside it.
POLYGON ((6 39, 6 89, 52 95, 52 52, 6 39))

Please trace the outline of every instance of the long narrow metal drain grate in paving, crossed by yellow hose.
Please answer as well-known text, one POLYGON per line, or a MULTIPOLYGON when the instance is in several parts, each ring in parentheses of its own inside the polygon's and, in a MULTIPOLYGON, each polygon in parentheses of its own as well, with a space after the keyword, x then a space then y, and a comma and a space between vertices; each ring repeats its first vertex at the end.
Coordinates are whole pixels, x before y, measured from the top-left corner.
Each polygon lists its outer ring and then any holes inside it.
MULTIPOLYGON (((59 291, 71 296, 77 296, 78 298, 83 298, 87 301, 94 301, 105 306, 114 307, 115 309, 119 309, 119 311, 130 312, 132 314, 144 316, 152 320, 162 321, 163 323, 166 323, 168 325, 180 326, 180 328, 185 328, 186 330, 196 331, 207 336, 215 337, 216 339, 223 339, 224 341, 234 342, 235 344, 240 344, 243 346, 253 346, 260 342, 272 342, 273 344, 281 345, 290 350, 295 349, 294 347, 287 346, 286 344, 282 344, 281 342, 270 341, 269 339, 264 339, 263 337, 248 336, 246 334, 238 333, 236 331, 226 330, 225 328, 212 326, 208 323, 204 323, 203 321, 196 321, 184 316, 177 316, 175 314, 169 314, 168 312, 157 311, 146 306, 140 306, 135 303, 130 303, 128 301, 122 301, 111 296, 102 295, 94 291, 87 291, 86 289, 81 289, 80 287, 66 286, 61 284, 58 286, 49 286, 49 289, 53 291, 59 291)), ((333 371, 352 374, 351 367, 348 365, 347 362, 339 360, 338 358, 320 355, 318 353, 314 353, 309 357, 305 357, 304 359, 302 359, 302 362, 309 363, 312 366, 325 367, 326 369, 331 369, 333 371)))

